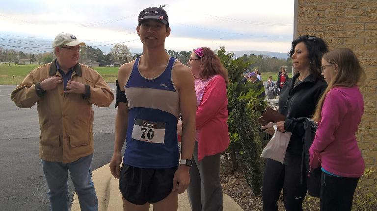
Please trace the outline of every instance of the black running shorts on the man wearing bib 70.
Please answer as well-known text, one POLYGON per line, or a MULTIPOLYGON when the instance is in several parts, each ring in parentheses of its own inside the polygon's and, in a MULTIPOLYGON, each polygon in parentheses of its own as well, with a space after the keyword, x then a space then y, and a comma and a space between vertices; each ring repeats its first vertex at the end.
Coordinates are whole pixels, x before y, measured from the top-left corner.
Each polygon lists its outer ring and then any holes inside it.
POLYGON ((172 168, 138 168, 123 164, 119 189, 123 197, 135 204, 157 203, 173 189, 173 177, 178 166, 172 168))

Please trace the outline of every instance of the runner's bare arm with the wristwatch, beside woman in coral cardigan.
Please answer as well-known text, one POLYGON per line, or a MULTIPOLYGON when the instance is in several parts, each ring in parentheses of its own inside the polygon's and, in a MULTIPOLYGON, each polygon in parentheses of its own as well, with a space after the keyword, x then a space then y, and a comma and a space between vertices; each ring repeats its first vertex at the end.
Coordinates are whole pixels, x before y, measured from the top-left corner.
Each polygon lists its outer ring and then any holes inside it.
MULTIPOLYGON (((183 122, 182 130, 182 159, 192 159, 192 152, 195 143, 195 117, 196 117, 196 94, 194 79, 187 66, 177 61, 174 65, 173 81, 179 92, 179 101, 183 122)), ((189 184, 189 167, 181 165, 175 176, 173 191, 183 193, 189 184), (175 185, 177 184, 178 185, 175 185)))

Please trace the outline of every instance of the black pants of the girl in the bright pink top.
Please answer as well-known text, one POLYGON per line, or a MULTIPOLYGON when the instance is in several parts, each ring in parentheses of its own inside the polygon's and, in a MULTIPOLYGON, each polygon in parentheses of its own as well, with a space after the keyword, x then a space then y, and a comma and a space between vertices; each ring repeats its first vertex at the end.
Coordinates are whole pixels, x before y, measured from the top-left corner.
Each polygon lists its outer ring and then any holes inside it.
POLYGON ((322 172, 321 211, 350 211, 359 178, 335 177, 322 172))

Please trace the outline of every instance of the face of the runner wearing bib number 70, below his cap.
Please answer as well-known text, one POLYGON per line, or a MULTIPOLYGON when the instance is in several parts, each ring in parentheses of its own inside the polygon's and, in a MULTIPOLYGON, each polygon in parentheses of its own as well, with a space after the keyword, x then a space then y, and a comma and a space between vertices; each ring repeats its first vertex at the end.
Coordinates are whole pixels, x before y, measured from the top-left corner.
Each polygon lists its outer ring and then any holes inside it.
POLYGON ((137 35, 147 47, 163 46, 165 38, 170 35, 170 27, 156 19, 146 19, 136 27, 137 35))

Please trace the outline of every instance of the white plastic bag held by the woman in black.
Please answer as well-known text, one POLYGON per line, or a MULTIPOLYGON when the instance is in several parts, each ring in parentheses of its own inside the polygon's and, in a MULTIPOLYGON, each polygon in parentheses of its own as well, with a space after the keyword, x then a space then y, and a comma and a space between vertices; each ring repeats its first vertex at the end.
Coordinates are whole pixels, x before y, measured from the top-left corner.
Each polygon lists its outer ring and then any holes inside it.
POLYGON ((275 133, 263 149, 261 157, 270 158, 283 163, 285 152, 287 151, 287 146, 291 139, 291 133, 280 133, 276 130, 276 124, 273 125, 273 128, 275 129, 275 133))

